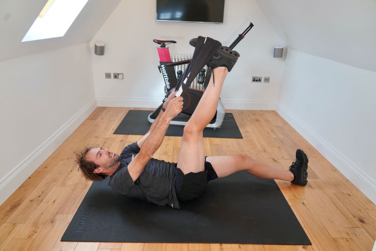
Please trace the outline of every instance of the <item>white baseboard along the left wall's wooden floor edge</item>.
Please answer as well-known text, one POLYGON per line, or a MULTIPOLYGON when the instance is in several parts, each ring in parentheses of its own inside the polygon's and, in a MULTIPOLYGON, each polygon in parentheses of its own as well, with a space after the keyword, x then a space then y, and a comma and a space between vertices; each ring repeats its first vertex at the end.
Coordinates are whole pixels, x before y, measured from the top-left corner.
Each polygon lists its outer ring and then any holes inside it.
POLYGON ((0 180, 0 204, 16 191, 16 189, 73 133, 73 131, 76 130, 96 107, 96 99, 93 99, 0 180))

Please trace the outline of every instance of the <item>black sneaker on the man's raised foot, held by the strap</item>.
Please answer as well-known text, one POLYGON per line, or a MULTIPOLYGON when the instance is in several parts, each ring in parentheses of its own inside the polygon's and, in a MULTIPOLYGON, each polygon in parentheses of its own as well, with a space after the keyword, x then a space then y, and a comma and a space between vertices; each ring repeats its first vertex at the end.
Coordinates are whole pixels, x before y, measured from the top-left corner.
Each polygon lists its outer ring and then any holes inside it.
POLYGON ((234 67, 235 63, 240 57, 237 51, 230 50, 227 46, 221 46, 214 56, 209 60, 208 67, 215 69, 220 66, 227 67, 227 70, 230 72, 234 67))

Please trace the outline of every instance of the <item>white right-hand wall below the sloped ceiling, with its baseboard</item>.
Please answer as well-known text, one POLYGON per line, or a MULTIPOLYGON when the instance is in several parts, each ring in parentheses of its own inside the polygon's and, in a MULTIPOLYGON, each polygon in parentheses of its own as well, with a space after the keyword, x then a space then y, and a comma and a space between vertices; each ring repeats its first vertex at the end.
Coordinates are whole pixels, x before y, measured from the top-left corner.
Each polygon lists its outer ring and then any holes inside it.
POLYGON ((278 112, 376 203, 376 72, 288 50, 278 112))

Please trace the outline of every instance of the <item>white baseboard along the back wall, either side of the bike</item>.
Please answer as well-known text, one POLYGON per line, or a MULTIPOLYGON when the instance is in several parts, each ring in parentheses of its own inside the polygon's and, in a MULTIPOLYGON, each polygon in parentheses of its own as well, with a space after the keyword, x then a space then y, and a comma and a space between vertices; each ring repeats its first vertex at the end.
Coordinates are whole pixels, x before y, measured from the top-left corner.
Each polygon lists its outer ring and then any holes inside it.
MULTIPOLYGON (((98 106, 107 107, 158 107, 161 100, 161 98, 97 97, 98 106)), ((275 110, 277 108, 274 101, 221 100, 226 109, 275 110)))

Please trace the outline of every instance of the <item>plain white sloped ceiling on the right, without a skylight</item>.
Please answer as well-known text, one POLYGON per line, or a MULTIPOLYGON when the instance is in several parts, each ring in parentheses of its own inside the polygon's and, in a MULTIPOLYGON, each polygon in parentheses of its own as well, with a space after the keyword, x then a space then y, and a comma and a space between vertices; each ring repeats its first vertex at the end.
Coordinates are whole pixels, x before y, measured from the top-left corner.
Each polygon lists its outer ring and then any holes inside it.
POLYGON ((375 0, 256 0, 288 48, 376 71, 375 0))

